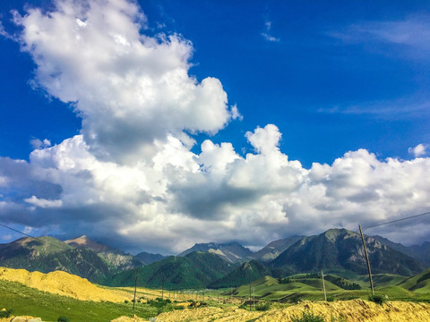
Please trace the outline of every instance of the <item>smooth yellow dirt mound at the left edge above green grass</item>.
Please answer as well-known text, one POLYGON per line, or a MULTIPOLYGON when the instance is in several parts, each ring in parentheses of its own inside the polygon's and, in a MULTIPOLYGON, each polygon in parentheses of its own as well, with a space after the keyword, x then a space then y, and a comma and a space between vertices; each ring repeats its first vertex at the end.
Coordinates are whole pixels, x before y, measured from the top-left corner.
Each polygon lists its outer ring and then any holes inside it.
POLYGON ((91 284, 86 278, 71 275, 62 271, 43 274, 29 272, 25 269, 0 267, 0 279, 19 282, 40 291, 69 296, 81 301, 130 300, 125 292, 116 292, 91 284))

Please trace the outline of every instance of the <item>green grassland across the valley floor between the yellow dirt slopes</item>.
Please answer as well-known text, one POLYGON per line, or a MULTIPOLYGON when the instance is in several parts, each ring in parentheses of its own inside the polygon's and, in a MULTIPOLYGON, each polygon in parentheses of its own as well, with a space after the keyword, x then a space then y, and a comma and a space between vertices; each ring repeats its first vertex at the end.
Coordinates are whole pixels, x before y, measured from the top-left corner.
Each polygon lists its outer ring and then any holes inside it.
MULTIPOLYGON (((366 276, 354 277, 353 280, 342 281, 350 284, 353 282, 360 284, 361 290, 345 290, 339 285, 326 280, 325 289, 328 300, 338 303, 353 299, 367 300, 370 289, 366 276)), ((389 301, 430 302, 429 277, 430 270, 407 279, 400 275, 374 275, 375 292, 384 297, 387 296, 389 301)), ((44 321, 56 321, 59 316, 66 316, 71 318, 72 321, 101 322, 110 321, 120 316, 131 317, 133 314, 140 318, 156 317, 161 312, 183 309, 192 301, 197 302, 194 306, 199 306, 200 303, 205 302, 206 308, 212 308, 210 311, 221 312, 225 309, 237 308, 244 301, 249 303, 250 289, 252 299, 255 299, 257 306, 259 302, 271 302, 271 308, 286 309, 301 301, 323 302, 322 279, 305 274, 291 275, 288 276, 288 279, 281 280, 271 276, 264 276, 250 284, 223 290, 200 289, 169 292, 168 290, 138 288, 137 298, 139 301, 136 302, 134 310, 132 309, 133 302, 131 301, 133 299, 132 287, 104 288, 113 289, 115 290, 114 292, 125 293, 125 298, 129 300, 116 303, 110 301, 80 301, 51 292, 43 292, 18 282, 0 280, 0 309, 13 309, 14 315, 31 315, 42 318, 44 321), (161 296, 169 301, 154 301, 161 296), (168 303, 170 301, 171 303, 168 303)), ((247 307, 247 304, 245 307, 247 307)), ((249 313, 246 313, 249 318, 256 318, 257 316, 262 318, 262 315, 249 313)), ((184 317, 186 315, 187 313, 185 314, 184 312, 184 317)))

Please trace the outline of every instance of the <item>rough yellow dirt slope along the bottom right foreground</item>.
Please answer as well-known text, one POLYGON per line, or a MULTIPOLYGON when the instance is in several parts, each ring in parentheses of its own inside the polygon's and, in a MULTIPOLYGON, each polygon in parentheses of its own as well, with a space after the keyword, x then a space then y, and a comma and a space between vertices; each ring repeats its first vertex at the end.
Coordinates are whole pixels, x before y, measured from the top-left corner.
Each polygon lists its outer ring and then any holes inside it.
POLYGON ((237 321, 245 322, 253 319, 255 322, 290 322, 291 317, 301 316, 304 310, 310 309, 315 314, 325 317, 326 321, 339 318, 340 315, 348 322, 430 322, 430 304, 391 301, 383 306, 374 302, 352 300, 335 302, 310 302, 288 307, 272 309, 267 312, 248 312, 245 309, 204 308, 184 309, 162 313, 157 317, 159 322, 209 322, 237 321))

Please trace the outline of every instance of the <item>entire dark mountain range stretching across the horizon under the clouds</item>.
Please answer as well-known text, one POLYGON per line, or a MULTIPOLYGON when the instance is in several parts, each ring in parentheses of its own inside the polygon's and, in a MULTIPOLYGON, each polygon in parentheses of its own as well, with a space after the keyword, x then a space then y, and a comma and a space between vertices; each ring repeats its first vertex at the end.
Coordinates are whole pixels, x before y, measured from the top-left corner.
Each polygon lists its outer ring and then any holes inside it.
MULTIPOLYGON (((420 273, 426 268, 427 244, 410 248, 380 236, 366 236, 374 274, 420 273)), ((361 237, 346 229, 293 236, 256 252, 238 242, 199 243, 176 257, 144 251, 133 256, 87 236, 65 242, 47 236, 25 237, 0 244, 0 266, 43 273, 64 270, 111 286, 133 285, 137 269, 139 285, 164 284, 170 289, 237 286, 265 275, 285 277, 321 270, 343 276, 367 272, 361 237)))

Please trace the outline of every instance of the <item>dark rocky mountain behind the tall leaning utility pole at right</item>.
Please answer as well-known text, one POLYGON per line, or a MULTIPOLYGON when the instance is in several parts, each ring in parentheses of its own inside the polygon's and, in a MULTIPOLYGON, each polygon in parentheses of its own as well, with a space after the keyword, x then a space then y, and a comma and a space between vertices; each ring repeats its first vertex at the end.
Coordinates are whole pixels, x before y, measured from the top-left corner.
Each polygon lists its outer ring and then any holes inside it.
MULTIPOLYGON (((425 267, 415 258, 392 250, 366 236, 366 247, 372 272, 414 275, 425 267)), ((271 266, 291 272, 348 270, 359 275, 367 273, 363 244, 358 233, 347 229, 331 229, 305 237, 275 258, 271 266)))

